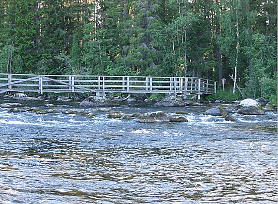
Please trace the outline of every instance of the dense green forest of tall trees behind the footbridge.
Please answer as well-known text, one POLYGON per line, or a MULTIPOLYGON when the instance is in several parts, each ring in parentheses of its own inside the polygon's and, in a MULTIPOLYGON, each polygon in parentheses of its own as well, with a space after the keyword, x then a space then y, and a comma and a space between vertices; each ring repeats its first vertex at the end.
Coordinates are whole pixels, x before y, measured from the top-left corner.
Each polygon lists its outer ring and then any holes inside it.
POLYGON ((226 78, 277 100, 277 1, 1 0, 0 72, 226 78))

